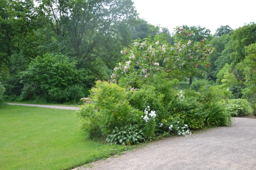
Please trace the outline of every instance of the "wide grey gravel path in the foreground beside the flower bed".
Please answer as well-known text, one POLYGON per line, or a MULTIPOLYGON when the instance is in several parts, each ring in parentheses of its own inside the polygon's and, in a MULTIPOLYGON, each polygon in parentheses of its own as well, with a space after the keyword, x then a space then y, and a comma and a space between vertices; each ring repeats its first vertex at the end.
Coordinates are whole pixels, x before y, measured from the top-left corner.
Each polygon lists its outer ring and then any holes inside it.
POLYGON ((78 169, 256 169, 256 119, 191 137, 172 137, 78 169))

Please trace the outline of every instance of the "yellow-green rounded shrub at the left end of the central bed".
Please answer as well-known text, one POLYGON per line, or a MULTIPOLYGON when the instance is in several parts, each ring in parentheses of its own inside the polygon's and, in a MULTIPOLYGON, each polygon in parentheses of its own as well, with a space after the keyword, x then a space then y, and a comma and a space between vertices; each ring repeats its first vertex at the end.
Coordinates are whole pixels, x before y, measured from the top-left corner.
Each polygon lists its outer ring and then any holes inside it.
POLYGON ((129 105, 127 93, 127 90, 116 84, 96 82, 88 102, 77 111, 82 129, 90 138, 105 138, 114 128, 134 122, 136 112, 129 105))

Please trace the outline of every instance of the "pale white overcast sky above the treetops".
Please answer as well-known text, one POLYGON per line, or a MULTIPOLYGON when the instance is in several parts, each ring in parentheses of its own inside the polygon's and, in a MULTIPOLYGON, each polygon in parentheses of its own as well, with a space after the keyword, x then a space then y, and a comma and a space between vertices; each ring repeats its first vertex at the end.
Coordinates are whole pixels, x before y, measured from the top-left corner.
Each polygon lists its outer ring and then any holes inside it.
POLYGON ((188 25, 210 29, 214 34, 221 25, 236 29, 256 22, 256 0, 132 0, 139 17, 174 32, 188 25))

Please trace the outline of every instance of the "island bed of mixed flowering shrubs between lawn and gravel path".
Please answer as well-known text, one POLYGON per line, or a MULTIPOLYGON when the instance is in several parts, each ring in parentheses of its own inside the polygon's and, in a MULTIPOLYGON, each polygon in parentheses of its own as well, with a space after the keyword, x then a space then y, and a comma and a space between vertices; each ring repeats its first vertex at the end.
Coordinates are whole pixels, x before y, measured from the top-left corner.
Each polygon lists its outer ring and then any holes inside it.
POLYGON ((194 58, 209 54, 208 46, 190 46, 189 40, 170 46, 156 36, 155 40, 135 41, 131 49, 124 49, 123 62, 115 67, 110 81, 97 81, 77 111, 89 137, 132 145, 166 133, 188 136, 190 129, 229 125, 231 116, 225 107, 217 105, 220 95, 214 88, 177 89, 178 75, 186 74, 191 64, 182 55, 191 52, 190 58, 194 58), (173 55, 178 55, 178 60, 173 60, 173 55), (214 108, 218 108, 218 114, 214 108))

